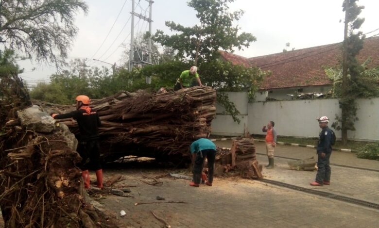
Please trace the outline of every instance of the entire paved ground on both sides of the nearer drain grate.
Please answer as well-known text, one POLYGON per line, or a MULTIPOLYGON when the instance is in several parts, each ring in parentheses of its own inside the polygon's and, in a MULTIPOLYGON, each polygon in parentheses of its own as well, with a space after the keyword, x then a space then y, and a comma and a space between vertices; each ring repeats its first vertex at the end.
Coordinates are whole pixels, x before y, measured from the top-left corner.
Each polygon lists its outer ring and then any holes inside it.
MULTIPOLYGON (((230 147, 231 141, 216 144, 220 147, 230 147)), ((258 153, 265 152, 263 143, 257 143, 256 147, 258 153)), ((306 159, 315 156, 315 152, 314 149, 304 147, 278 146, 276 155, 306 159)), ((257 158, 259 163, 267 163, 266 156, 258 155, 257 158)), ((263 170, 265 178, 379 203, 378 172, 332 166, 331 185, 311 187, 309 182, 314 180, 316 172, 289 170, 288 161, 276 158, 275 169, 263 170)), ((354 154, 345 152, 333 151, 331 163, 379 170, 378 161, 357 159, 354 154)), ((107 195, 98 202, 116 216, 124 210, 126 216, 117 217, 124 224, 121 227, 125 228, 162 227, 163 224, 155 219, 151 211, 165 218, 173 228, 378 226, 379 210, 272 186, 257 180, 216 178, 212 187, 201 185, 199 188, 190 187, 189 181, 183 179, 162 178, 162 186, 151 186, 141 181, 141 173, 154 177, 167 172, 189 175, 188 170, 166 170, 146 166, 131 168, 129 164, 108 167, 104 170, 105 179, 121 173, 126 179, 114 187, 137 186, 130 187, 135 198, 107 195), (165 197, 165 201, 187 203, 134 205, 136 202, 158 202, 155 199, 157 195, 165 197)), ((95 179, 93 172, 91 179, 95 179)))

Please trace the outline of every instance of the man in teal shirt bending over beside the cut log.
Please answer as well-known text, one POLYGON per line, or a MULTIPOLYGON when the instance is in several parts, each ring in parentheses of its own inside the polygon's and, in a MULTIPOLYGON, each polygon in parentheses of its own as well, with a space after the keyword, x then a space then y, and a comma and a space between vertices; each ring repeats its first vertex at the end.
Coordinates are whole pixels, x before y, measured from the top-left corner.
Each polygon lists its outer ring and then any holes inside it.
POLYGON ((213 182, 213 166, 216 156, 216 145, 209 139, 201 138, 194 141, 190 146, 193 163, 193 181, 190 186, 199 187, 201 174, 203 171, 204 158, 207 158, 208 163, 208 180, 206 184, 212 186, 213 182))

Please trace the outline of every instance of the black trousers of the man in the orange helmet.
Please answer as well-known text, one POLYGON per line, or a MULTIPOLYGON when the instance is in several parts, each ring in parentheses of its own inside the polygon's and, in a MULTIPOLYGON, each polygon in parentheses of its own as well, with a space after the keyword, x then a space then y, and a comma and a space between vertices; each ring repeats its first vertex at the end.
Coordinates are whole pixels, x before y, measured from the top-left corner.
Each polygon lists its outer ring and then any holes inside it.
POLYGON ((77 164, 81 170, 102 169, 100 163, 100 147, 97 140, 79 142, 77 151, 80 157, 82 157, 82 162, 77 164))

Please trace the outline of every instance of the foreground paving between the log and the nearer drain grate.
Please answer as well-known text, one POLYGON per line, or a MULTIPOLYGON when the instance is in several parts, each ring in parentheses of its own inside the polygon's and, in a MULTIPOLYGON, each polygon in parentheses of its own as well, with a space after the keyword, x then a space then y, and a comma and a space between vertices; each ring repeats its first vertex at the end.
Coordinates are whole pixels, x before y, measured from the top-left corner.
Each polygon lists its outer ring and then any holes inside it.
MULTIPOLYGON (((113 175, 116 170, 108 170, 113 175)), ((315 195, 266 185, 256 180, 215 179, 214 186, 190 187, 183 179, 161 179, 163 186, 155 187, 139 181, 136 170, 123 170, 127 177, 123 183, 135 184, 136 198, 107 196, 100 200, 115 213, 121 210, 127 215, 120 218, 125 227, 158 228, 150 211, 164 217, 172 227, 183 228, 250 228, 250 227, 376 227, 379 211, 315 195), (187 204, 146 204, 166 201, 186 201, 187 204)), ((159 172, 150 171, 154 176, 159 172)))

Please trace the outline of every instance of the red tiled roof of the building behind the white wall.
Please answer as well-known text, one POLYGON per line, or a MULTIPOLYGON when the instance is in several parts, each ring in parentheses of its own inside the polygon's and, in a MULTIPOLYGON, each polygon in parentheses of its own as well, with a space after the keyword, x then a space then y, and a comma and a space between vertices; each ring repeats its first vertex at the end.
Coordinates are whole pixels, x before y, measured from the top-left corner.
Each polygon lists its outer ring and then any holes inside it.
MULTIPOLYGON (((330 85, 323 66, 335 66, 342 61, 342 43, 328 44, 307 49, 298 49, 271 55, 245 58, 225 51, 221 56, 233 64, 258 66, 272 74, 264 79, 261 90, 330 85)), ((369 67, 379 65, 379 37, 364 40, 363 49, 357 56, 360 63, 371 57, 369 67)))

